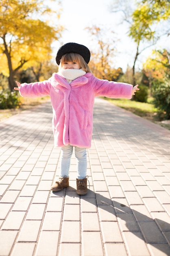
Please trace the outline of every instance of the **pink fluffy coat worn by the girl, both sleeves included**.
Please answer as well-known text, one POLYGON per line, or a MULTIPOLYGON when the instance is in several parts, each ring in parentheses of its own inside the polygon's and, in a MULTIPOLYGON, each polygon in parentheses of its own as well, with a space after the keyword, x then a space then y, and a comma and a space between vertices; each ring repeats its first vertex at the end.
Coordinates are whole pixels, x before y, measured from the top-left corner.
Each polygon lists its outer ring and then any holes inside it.
POLYGON ((133 85, 97 79, 91 73, 80 76, 70 84, 59 74, 42 82, 23 83, 22 97, 50 96, 53 110, 54 146, 68 144, 90 148, 93 130, 94 98, 131 99, 133 85))

